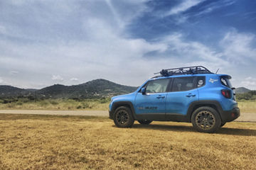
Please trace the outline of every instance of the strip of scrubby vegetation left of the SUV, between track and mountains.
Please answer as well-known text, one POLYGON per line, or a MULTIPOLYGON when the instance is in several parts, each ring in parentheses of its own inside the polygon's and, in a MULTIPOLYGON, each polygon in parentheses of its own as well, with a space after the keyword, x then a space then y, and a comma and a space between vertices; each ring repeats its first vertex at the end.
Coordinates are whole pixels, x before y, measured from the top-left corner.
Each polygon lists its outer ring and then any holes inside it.
POLYGON ((110 98, 1 98, 0 109, 107 110, 109 103, 110 98))

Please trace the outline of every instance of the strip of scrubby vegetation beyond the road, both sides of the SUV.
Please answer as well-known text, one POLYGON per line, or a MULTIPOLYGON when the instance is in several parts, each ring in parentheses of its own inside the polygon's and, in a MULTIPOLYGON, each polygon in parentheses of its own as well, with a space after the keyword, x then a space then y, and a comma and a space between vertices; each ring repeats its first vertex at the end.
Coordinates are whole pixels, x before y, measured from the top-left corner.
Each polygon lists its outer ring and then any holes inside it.
MULTIPOLYGON (((236 94, 241 113, 256 113, 256 91, 236 94)), ((0 109, 107 110, 110 98, 0 98, 0 109)))

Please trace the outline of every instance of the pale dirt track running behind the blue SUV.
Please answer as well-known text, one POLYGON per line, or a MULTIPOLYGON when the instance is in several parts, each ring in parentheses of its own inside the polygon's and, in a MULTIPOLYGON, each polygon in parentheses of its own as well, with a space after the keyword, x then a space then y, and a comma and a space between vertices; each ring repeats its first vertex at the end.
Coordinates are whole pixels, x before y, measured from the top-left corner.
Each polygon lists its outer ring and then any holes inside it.
MULTIPOLYGON (((32 115, 93 115, 108 116, 108 111, 41 111, 41 110, 0 110, 0 114, 32 114, 32 115)), ((256 113, 241 113, 235 121, 256 122, 256 113)))

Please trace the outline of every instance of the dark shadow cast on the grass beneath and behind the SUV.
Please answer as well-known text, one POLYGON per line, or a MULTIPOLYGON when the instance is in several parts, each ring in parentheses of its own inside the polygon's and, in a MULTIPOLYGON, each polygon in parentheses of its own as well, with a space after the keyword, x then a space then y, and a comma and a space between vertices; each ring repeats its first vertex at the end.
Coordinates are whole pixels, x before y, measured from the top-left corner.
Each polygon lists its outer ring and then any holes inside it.
MULTIPOLYGON (((192 126, 186 125, 140 125, 134 124, 132 128, 150 129, 150 130, 170 130, 176 132, 197 132, 192 126)), ((256 136, 256 130, 242 128, 220 128, 215 134, 239 135, 239 136, 256 136)))

